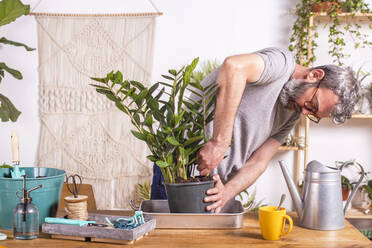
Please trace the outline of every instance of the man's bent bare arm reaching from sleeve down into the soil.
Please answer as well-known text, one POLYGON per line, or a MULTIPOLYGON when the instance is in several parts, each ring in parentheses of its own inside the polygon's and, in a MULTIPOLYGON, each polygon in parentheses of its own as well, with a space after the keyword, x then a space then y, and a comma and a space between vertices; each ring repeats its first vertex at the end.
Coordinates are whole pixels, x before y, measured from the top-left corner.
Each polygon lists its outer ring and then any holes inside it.
POLYGON ((223 159, 230 145, 234 119, 247 83, 256 82, 264 70, 257 54, 231 56, 220 68, 214 115, 213 137, 200 151, 198 169, 208 174, 223 159))

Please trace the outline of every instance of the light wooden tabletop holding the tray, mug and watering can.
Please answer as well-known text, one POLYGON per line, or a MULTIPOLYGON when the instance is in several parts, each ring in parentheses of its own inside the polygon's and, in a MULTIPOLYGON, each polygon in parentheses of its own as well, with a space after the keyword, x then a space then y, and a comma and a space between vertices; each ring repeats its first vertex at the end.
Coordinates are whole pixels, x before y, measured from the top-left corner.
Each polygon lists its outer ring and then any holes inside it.
MULTIPOLYGON (((98 211, 97 211, 98 212, 98 211)), ((130 215, 124 211, 99 211, 99 213, 130 215)), ((244 227, 241 229, 225 230, 186 230, 186 229, 156 229, 141 240, 131 245, 117 245, 108 243, 82 242, 71 240, 51 239, 47 235, 35 240, 13 240, 10 231, 0 230, 9 239, 0 241, 0 246, 8 248, 71 248, 71 247, 372 247, 372 242, 361 234, 354 226, 345 221, 345 228, 338 231, 315 231, 298 227, 295 213, 290 213, 295 226, 290 234, 280 241, 267 241, 261 237, 258 216, 247 213, 244 216, 244 227)))

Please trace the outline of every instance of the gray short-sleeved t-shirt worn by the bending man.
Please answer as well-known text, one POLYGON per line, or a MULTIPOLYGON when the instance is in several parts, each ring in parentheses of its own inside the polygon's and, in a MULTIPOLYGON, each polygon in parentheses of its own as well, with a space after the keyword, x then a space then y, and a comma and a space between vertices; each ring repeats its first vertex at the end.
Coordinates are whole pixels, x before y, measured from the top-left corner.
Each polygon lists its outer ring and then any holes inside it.
MULTIPOLYGON (((257 82, 246 84, 234 120, 231 147, 213 171, 223 182, 230 180, 267 139, 282 142, 299 118, 299 114, 278 101, 281 89, 294 72, 293 55, 279 48, 266 48, 255 54, 262 57, 265 68, 257 82)), ((202 85, 215 83, 218 72, 219 68, 209 74, 202 85)), ((210 123, 208 135, 212 137, 212 134, 213 123, 210 123)))

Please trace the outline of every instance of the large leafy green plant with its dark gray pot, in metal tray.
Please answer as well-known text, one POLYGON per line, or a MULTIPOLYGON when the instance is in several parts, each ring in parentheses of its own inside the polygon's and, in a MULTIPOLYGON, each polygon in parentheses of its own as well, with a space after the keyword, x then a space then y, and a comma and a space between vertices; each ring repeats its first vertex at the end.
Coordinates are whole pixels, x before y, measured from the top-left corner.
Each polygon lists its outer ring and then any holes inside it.
POLYGON ((132 134, 147 144, 147 158, 164 177, 171 212, 206 212, 205 192, 214 185, 210 176, 194 177, 198 152, 208 141, 206 126, 213 120, 216 93, 216 84, 203 87, 191 81, 197 63, 198 58, 178 71, 169 70, 162 75, 168 82, 150 88, 124 80, 120 71, 92 78, 101 83, 92 85, 97 92, 128 115, 132 134))

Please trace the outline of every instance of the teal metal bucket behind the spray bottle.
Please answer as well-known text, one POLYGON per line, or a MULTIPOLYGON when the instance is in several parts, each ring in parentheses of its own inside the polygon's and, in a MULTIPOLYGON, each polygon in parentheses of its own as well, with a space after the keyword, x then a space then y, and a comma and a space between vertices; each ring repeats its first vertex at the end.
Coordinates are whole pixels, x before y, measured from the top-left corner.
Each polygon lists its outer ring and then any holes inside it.
MULTIPOLYGON (((32 203, 39 209, 39 225, 45 217, 55 217, 61 196, 66 172, 60 169, 44 167, 22 167, 27 175, 26 188, 31 189, 42 184, 30 193, 32 203)), ((17 190, 23 188, 23 178, 11 178, 11 169, 0 169, 0 229, 13 229, 13 210, 20 202, 16 197, 17 190)))

